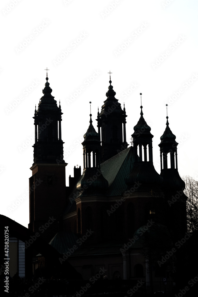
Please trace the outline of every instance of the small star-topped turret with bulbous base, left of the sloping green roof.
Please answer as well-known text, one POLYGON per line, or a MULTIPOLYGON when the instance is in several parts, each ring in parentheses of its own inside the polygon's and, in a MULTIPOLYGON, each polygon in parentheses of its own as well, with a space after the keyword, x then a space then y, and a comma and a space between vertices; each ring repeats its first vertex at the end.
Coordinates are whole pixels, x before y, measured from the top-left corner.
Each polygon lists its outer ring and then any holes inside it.
POLYGON ((103 177, 100 170, 100 139, 92 125, 84 135, 83 145, 83 175, 77 182, 79 191, 75 199, 77 208, 77 233, 85 234, 87 230, 94 230, 92 241, 98 241, 101 234, 100 211, 104 202, 107 201, 108 181, 103 177))

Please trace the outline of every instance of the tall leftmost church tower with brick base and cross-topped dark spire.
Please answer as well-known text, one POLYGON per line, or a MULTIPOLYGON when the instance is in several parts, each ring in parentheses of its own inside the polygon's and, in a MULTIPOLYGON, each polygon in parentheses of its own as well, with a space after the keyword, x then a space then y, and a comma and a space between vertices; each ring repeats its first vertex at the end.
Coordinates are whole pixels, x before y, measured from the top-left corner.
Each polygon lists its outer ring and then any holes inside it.
MULTIPOLYGON (((47 70, 47 69, 46 69, 47 70)), ((51 239, 66 205, 65 163, 61 139, 61 106, 51 95, 46 77, 43 97, 34 113, 34 163, 29 178, 29 229, 51 239), (43 227, 44 226, 44 227, 43 227)))

